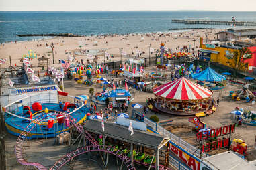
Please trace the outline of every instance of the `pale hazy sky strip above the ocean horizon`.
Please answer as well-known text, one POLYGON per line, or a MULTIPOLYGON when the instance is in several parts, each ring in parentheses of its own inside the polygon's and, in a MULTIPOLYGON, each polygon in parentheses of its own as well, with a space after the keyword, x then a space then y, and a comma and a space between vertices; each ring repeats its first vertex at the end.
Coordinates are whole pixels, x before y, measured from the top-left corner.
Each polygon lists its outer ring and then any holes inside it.
MULTIPOLYGON (((255 0, 0 0, 0 11, 256 11, 255 0)), ((255 16, 256 17, 256 16, 255 16)))

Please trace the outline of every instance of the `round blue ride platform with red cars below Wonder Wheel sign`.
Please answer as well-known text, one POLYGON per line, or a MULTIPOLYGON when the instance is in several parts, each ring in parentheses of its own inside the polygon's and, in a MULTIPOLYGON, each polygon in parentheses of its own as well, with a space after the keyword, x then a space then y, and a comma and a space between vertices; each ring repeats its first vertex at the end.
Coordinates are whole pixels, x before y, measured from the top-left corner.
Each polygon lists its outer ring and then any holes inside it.
POLYGON ((40 103, 34 102, 32 106, 23 106, 19 108, 19 111, 15 114, 5 114, 5 124, 7 131, 13 135, 19 136, 20 133, 30 124, 37 120, 42 120, 36 124, 33 131, 28 135, 28 139, 54 137, 63 131, 69 130, 69 120, 60 118, 62 114, 56 114, 56 112, 66 112, 72 114, 72 116, 78 121, 85 121, 85 114, 89 110, 86 106, 79 108, 79 104, 71 104, 65 102, 65 104, 57 103, 40 103), (77 110, 76 110, 77 109, 77 110), (47 117, 47 118, 46 118, 47 117))

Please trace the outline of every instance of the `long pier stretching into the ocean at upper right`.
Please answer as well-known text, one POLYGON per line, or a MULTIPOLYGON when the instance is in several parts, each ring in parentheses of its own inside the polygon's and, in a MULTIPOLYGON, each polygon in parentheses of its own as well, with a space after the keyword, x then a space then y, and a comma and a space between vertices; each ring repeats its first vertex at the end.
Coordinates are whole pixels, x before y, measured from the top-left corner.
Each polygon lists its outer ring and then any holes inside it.
POLYGON ((207 20, 185 20, 173 19, 173 23, 183 23, 189 25, 204 24, 204 25, 236 25, 236 26, 256 26, 256 22, 249 21, 207 21, 207 20))

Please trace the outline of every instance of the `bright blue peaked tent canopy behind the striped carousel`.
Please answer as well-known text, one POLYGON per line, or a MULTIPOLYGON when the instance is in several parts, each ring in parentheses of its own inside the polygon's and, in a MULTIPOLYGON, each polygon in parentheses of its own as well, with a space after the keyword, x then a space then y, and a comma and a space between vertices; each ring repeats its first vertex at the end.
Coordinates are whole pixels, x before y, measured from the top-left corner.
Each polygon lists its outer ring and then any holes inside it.
POLYGON ((226 76, 218 74, 210 67, 200 73, 193 74, 192 78, 206 82, 221 82, 222 80, 226 80, 226 76))

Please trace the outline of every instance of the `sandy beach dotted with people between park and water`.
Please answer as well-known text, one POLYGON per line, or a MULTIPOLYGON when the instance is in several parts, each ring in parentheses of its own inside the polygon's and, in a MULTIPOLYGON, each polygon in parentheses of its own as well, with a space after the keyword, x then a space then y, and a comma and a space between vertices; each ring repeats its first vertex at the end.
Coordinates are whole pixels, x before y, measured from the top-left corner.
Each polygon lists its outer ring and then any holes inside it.
MULTIPOLYGON (((140 58, 148 57, 149 46, 154 50, 159 49, 160 42, 165 43, 165 48, 171 50, 171 52, 177 52, 183 46, 187 46, 192 52, 194 46, 193 39, 195 41, 195 54, 197 53, 198 46, 200 44, 200 37, 204 38, 204 41, 208 39, 214 40, 216 37, 215 33, 220 29, 199 29, 199 30, 182 30, 173 31, 169 33, 146 33, 146 34, 127 34, 127 35, 98 35, 98 36, 87 36, 87 37, 53 37, 52 39, 35 40, 35 41, 18 41, 1 44, 0 46, 0 58, 7 59, 5 64, 1 65, 1 68, 9 66, 9 56, 11 56, 11 63, 13 66, 22 66, 20 59, 22 55, 28 54, 28 50, 38 54, 38 58, 41 56, 47 56, 47 52, 51 52, 50 44, 54 44, 54 61, 58 66, 58 60, 67 60, 70 54, 67 52, 73 52, 73 50, 103 50, 113 55, 111 61, 120 60, 120 48, 123 48, 127 56, 135 56, 135 47, 137 52, 140 51, 142 56, 140 58), (48 44, 48 47, 46 46, 48 44), (132 54, 133 53, 133 54, 132 54)), ((49 53, 50 54, 50 53, 49 53)), ((151 54, 155 56, 155 52, 151 54)), ((49 62, 52 64, 52 54, 48 56, 49 62)), ((94 56, 93 56, 94 57, 94 56)), ((103 55, 98 56, 97 63, 103 62, 103 55)), ((81 58, 86 60, 86 56, 76 55, 76 59, 80 62, 81 58)), ((32 60, 33 66, 37 66, 38 61, 32 60)))

